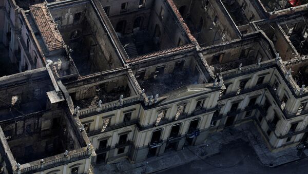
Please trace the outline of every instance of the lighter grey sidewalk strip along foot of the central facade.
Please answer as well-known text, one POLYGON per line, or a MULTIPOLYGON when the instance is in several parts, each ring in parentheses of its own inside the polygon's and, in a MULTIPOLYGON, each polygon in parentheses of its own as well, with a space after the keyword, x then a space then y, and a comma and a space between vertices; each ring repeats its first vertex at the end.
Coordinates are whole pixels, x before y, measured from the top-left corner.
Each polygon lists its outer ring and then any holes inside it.
POLYGON ((180 151, 169 151, 160 157, 151 157, 143 162, 131 164, 123 159, 118 163, 94 165, 95 173, 154 173, 198 160, 199 157, 215 156, 220 152, 220 144, 202 144, 184 147, 180 151), (198 157, 199 156, 199 157, 198 157))

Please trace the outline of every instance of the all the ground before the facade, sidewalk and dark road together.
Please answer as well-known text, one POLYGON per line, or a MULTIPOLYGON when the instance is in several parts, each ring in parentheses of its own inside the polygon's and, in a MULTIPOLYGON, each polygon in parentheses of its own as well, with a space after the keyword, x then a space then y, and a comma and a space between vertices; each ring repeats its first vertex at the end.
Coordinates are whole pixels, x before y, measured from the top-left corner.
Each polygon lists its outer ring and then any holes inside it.
POLYGON ((276 153, 269 151, 256 126, 253 123, 246 123, 210 134, 202 145, 184 146, 180 151, 165 152, 163 156, 151 157, 140 163, 131 164, 123 159, 118 163, 93 167, 95 173, 167 173, 165 171, 186 173, 183 171, 185 169, 188 171, 190 168, 196 168, 197 173, 208 173, 208 170, 213 170, 213 173, 221 171, 236 173, 236 169, 249 173, 260 173, 258 171, 267 173, 271 172, 268 168, 302 159, 308 161, 308 158, 305 158, 307 155, 308 149, 302 151, 297 147, 276 153), (199 163, 203 165, 198 167, 196 164, 199 163), (178 169, 183 167, 183 170, 178 169))

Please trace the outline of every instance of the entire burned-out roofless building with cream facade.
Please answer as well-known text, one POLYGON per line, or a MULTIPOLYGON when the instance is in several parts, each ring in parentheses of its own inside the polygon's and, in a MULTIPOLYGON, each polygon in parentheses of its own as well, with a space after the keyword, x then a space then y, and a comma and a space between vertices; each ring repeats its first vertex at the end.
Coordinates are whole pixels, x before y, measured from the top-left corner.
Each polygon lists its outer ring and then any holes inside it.
POLYGON ((308 138, 307 5, 259 0, 0 2, 4 173, 92 173, 254 123, 308 138), (290 6, 290 7, 289 7, 290 6))

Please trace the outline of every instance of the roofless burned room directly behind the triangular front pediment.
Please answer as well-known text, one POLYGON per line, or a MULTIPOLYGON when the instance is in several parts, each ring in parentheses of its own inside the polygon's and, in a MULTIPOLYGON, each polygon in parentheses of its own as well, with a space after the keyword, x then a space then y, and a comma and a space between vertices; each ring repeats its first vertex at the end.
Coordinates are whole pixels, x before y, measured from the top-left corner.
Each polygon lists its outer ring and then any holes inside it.
MULTIPOLYGON (((170 63, 171 64, 171 63, 170 63)), ((137 69, 137 81, 147 95, 162 95, 185 85, 204 83, 204 76, 195 59, 177 60, 172 65, 137 69)))

